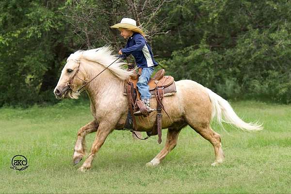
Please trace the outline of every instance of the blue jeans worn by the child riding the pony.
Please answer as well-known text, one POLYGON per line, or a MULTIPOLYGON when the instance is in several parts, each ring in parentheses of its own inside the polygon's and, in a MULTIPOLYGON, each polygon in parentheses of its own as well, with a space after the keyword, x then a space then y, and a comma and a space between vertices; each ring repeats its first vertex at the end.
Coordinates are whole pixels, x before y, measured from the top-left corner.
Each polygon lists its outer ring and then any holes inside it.
POLYGON ((138 82, 136 86, 138 91, 141 93, 141 99, 149 99, 151 98, 151 94, 149 93, 149 87, 147 82, 150 79, 151 74, 154 72, 154 67, 147 67, 142 69, 142 75, 138 78, 138 82))

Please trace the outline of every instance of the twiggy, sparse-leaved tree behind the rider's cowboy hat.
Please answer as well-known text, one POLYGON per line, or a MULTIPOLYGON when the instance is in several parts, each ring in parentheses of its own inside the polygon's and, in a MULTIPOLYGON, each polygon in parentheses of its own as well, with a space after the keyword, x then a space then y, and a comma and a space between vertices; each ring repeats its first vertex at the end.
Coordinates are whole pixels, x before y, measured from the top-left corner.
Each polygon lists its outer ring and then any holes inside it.
POLYGON ((69 9, 63 14, 74 26, 75 34, 82 48, 96 48, 111 44, 115 49, 124 45, 119 32, 111 29, 123 17, 137 21, 138 26, 146 31, 147 39, 162 32, 167 25, 165 19, 158 19, 162 5, 171 0, 72 0, 69 9))

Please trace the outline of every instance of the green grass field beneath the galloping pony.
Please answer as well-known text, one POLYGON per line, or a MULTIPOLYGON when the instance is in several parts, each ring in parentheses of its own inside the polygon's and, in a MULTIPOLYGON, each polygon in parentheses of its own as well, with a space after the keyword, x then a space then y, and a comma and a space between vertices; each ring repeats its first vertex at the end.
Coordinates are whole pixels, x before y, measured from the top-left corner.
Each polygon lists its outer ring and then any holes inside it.
MULTIPOLYGON (((264 130, 243 132, 212 126, 222 136, 226 160, 217 167, 212 145, 183 129, 176 148, 158 167, 146 167, 162 149, 157 137, 133 140, 113 131, 86 173, 72 165, 76 133, 92 120, 89 104, 0 109, 0 193, 291 193, 291 105, 232 102, 245 121, 264 130), (15 155, 29 167, 10 169, 15 155)), ((145 133, 143 133, 145 136, 145 133)), ((87 150, 95 133, 87 135, 87 150)), ((84 160, 83 160, 84 161, 84 160)), ((83 162, 81 161, 81 163, 83 162)))

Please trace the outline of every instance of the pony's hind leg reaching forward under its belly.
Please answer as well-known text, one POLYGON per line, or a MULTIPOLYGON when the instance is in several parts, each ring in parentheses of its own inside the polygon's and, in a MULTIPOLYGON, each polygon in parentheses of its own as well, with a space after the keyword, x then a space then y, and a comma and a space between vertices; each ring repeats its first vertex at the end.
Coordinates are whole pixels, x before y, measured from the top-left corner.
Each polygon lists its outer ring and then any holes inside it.
POLYGON ((166 157, 166 155, 177 145, 178 135, 180 131, 181 129, 168 128, 165 146, 153 160, 146 163, 146 166, 157 166, 158 164, 160 164, 162 159, 164 159, 164 157, 166 157))

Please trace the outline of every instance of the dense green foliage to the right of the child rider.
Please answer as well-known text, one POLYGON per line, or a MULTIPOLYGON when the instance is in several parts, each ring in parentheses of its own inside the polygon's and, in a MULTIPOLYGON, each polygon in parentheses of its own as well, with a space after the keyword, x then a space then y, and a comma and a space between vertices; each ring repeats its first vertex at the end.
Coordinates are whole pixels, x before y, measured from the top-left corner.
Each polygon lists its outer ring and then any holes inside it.
POLYGON ((155 44, 160 55, 172 53, 168 71, 178 80, 192 79, 224 97, 290 103, 290 9, 286 0, 174 1, 164 8, 171 13, 170 37, 155 44))

